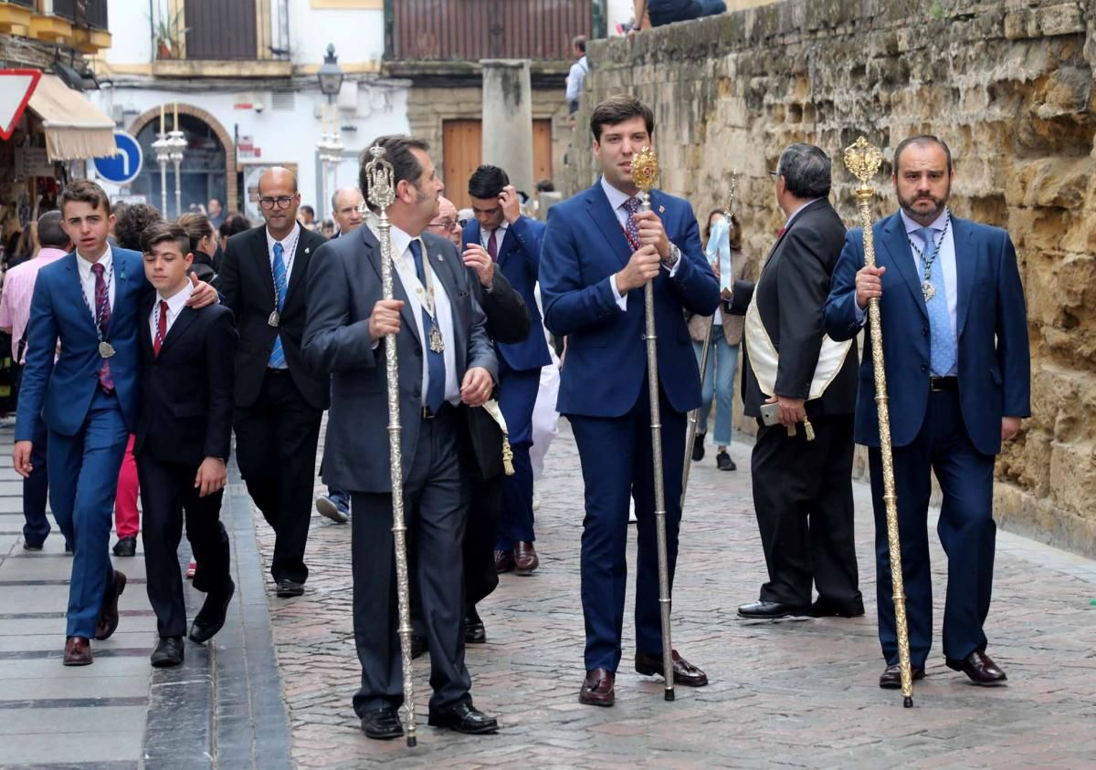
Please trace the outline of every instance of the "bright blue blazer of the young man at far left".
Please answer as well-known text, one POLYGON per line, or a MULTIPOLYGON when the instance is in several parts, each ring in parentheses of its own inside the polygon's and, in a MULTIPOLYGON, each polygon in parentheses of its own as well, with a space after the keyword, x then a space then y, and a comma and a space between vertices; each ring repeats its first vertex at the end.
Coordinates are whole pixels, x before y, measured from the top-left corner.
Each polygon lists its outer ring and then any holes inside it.
MULTIPOLYGON (((91 399, 99 387, 99 336, 72 252, 43 267, 34 284, 31 323, 26 343, 26 367, 19 392, 15 440, 30 441, 38 420, 62 436, 75 436, 83 425, 91 399), (61 354, 54 363, 58 341, 61 354)), ((138 252, 112 248, 114 303, 104 337, 114 347, 111 376, 126 427, 137 427, 140 346, 138 330, 148 317, 140 309, 153 291, 145 278, 138 252)))

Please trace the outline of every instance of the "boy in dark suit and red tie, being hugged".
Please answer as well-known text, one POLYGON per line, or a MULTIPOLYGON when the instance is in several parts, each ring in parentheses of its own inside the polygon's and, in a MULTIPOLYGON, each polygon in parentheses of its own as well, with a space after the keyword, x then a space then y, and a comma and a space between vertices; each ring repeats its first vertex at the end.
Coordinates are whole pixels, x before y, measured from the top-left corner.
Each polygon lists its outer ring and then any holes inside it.
POLYGON ((194 256, 186 231, 156 222, 141 234, 145 276, 156 288, 140 327, 141 403, 137 473, 145 513, 142 538, 148 598, 160 642, 153 666, 183 662, 186 607, 179 568, 184 512, 186 538, 197 571, 194 587, 206 593, 190 637, 202 643, 225 624, 236 586, 229 576, 228 535, 221 525, 232 428, 232 357, 236 327, 224 306, 186 306, 194 256))

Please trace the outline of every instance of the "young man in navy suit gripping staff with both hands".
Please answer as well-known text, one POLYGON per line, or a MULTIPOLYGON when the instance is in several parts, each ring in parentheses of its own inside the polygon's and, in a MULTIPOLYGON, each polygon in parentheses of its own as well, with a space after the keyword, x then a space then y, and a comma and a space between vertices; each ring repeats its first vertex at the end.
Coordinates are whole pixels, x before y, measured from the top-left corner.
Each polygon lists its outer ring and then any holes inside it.
MULTIPOLYGON (((654 281, 672 585, 685 415, 700 405, 700 377, 685 312, 711 315, 719 303, 719 285, 704 257, 687 202, 652 191, 651 210, 639 210, 631 162, 651 145, 651 108, 631 96, 614 96, 593 111, 590 128, 603 175, 590 189, 549 210, 540 292, 545 323, 568 338, 558 409, 574 432, 585 483, 581 568, 586 677, 579 701, 613 705, 621 652, 629 496, 639 525, 636 670, 662 674, 643 287, 654 281)), ((675 682, 708 683, 704 671, 676 651, 672 655, 675 682)))

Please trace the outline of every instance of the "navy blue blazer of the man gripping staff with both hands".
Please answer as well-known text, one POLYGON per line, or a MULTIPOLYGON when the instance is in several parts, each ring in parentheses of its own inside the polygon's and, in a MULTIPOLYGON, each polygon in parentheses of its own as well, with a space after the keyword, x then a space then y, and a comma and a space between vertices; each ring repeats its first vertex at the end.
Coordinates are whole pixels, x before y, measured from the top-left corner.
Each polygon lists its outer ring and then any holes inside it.
MULTIPOLYGON (((654 279, 659 382, 674 410, 687 412, 700 405, 700 376, 685 312, 716 312, 719 284, 688 203, 652 191, 651 209, 682 254, 673 278, 663 269, 654 279)), ((601 182, 548 209, 540 297, 545 324, 567 336, 558 403, 563 414, 619 417, 639 398, 647 375, 643 289, 629 291, 621 311, 608 281, 631 253, 601 182)))

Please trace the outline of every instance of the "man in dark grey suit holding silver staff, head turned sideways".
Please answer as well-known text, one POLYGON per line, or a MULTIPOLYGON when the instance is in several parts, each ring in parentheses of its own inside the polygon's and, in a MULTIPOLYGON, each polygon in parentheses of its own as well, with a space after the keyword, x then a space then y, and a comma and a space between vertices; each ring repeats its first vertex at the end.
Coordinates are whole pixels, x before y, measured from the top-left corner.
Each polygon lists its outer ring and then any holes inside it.
MULTIPOLYGON (((383 299, 381 249, 372 227, 326 244, 309 272, 304 354, 331 375, 323 480, 351 493, 354 640, 362 688, 354 711, 370 738, 402 735, 392 495, 383 340, 395 334, 399 367, 403 499, 413 581, 431 650, 430 724, 492 733, 471 701, 465 666, 461 536, 468 513, 460 404, 479 406, 494 387, 496 359, 475 300, 475 277, 446 239, 425 232, 443 189, 429 145, 381 137, 393 170, 395 299, 383 299)), ((368 188, 365 161, 361 187, 368 188)), ((400 589, 406 588, 401 586, 400 589)), ((407 597, 403 597, 407 600, 407 597)))

